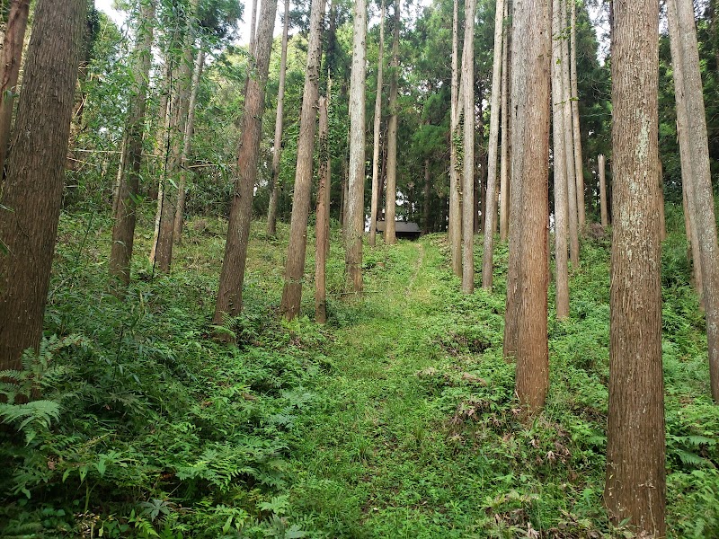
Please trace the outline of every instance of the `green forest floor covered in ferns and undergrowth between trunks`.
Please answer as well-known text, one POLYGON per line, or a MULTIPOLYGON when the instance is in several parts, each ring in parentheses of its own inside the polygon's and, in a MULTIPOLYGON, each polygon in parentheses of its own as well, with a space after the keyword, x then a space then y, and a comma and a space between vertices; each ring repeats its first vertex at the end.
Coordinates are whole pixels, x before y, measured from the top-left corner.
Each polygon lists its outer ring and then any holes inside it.
MULTIPOLYGON (((310 238, 302 313, 286 323, 287 228, 270 238, 255 223, 244 314, 216 327, 221 220, 191 221, 169 276, 144 260, 143 227, 125 302, 107 292, 109 228, 63 216, 49 340, 26 361, 44 404, 0 410, 17 431, 0 431, 0 537, 630 536, 601 504, 607 237, 582 244, 570 320, 549 314, 551 388, 527 424, 502 358, 506 246, 493 293, 472 296, 443 234, 365 246, 365 293, 352 296, 333 230, 319 326, 310 238)), ((719 411, 685 253, 670 234, 668 519, 673 537, 714 537, 719 411)))

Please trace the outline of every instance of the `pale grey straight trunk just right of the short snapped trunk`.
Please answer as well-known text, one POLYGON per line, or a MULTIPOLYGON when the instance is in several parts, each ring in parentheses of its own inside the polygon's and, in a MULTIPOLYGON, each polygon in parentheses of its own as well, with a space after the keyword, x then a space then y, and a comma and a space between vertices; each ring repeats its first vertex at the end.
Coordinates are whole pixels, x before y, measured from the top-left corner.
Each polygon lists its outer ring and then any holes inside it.
POLYGON ((365 229, 365 73, 367 3, 354 2, 350 78, 350 177, 344 225, 345 268, 353 292, 362 291, 362 236, 365 229))

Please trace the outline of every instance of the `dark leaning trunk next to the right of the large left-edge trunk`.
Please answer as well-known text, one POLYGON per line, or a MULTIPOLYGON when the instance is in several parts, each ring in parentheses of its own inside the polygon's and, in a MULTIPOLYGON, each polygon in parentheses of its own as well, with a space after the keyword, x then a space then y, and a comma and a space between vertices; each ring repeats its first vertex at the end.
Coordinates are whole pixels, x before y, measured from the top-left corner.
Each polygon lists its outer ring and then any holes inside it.
POLYGON ((110 275, 120 282, 122 296, 129 285, 130 262, 135 239, 135 206, 139 194, 139 172, 142 162, 142 134, 145 127, 147 81, 152 64, 155 25, 155 0, 140 4, 138 34, 135 43, 135 81, 130 94, 130 110, 122 141, 118 190, 114 198, 110 275))

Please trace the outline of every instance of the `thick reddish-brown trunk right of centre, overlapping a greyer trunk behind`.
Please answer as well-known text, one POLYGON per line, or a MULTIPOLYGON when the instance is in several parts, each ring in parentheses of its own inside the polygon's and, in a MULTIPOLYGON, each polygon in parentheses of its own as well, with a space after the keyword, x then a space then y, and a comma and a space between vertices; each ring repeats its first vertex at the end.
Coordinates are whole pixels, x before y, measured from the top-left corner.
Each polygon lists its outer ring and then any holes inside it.
MULTIPOLYGON (((551 23, 544 2, 521 6, 519 24, 526 42, 526 71, 519 84, 519 103, 526 125, 518 143, 523 147, 515 171, 523 184, 519 281, 522 293, 517 298, 516 384, 519 402, 531 415, 544 407, 549 387, 549 349, 547 344, 548 265, 548 167, 551 23)), ((513 147, 518 147, 514 146, 513 147)), ((512 226, 515 226, 512 223, 512 226)))

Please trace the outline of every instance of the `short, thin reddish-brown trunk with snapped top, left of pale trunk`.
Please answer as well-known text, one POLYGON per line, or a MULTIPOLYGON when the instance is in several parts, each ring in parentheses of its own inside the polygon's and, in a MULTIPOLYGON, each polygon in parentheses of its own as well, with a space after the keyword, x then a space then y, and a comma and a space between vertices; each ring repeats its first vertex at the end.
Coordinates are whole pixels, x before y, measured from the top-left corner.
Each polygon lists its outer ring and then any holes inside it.
POLYGON ((320 146, 320 173, 317 186, 317 218, 315 221, 315 320, 317 323, 327 322, 327 295, 326 295, 326 267, 327 245, 329 242, 327 217, 327 191, 330 187, 330 146, 329 146, 329 119, 327 113, 327 98, 319 99, 319 146, 320 146))

